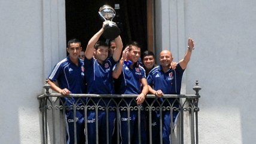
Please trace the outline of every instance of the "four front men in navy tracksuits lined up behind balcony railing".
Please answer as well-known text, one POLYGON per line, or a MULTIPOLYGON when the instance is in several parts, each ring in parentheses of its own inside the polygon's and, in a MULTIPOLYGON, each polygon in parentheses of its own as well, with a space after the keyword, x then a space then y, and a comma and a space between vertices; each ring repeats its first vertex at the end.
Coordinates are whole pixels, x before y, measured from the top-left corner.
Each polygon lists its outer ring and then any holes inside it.
MULTIPOLYGON (((63 96, 74 94, 137 94, 136 99, 128 98, 123 104, 130 103, 130 106, 142 105, 148 93, 155 94, 157 97, 162 97, 163 94, 179 94, 181 90, 181 78, 182 74, 187 67, 190 60, 191 51, 194 48, 193 39, 188 39, 188 50, 185 53, 184 59, 176 63, 175 68, 170 66, 173 60, 172 53, 168 50, 163 50, 160 53, 160 66, 151 68, 152 70, 146 77, 145 69, 139 64, 141 57, 141 47, 138 42, 130 42, 123 50, 123 42, 121 37, 117 36, 114 39, 115 49, 112 56, 109 57, 109 46, 105 42, 99 41, 100 36, 104 32, 104 28, 108 21, 103 22, 102 28, 90 39, 87 44, 84 60, 79 59, 78 56, 81 51, 81 42, 78 39, 71 39, 68 42, 67 51, 69 56, 60 61, 54 66, 50 76, 48 76, 48 83, 51 85, 51 89, 57 91, 63 96), (121 56, 121 59, 120 59, 121 56), (114 79, 118 79, 118 88, 114 87, 114 79), (57 82, 57 83, 56 83, 57 82)), ((65 105, 83 105, 88 103, 98 103, 98 106, 106 106, 105 103, 109 103, 108 98, 103 98, 100 101, 99 98, 86 99, 83 98, 79 102, 77 99, 62 97, 65 105), (88 102, 93 100, 93 102, 88 102)), ((170 101, 172 101, 170 99, 170 101)), ((159 102, 161 99, 159 99, 159 102)), ((110 106, 114 103, 109 104, 110 106)), ((66 140, 67 143, 74 143, 74 123, 69 120, 74 119, 73 111, 66 112, 66 140)), ((108 113, 106 117, 105 111, 98 111, 98 136, 99 143, 112 143, 112 137, 115 130, 116 114, 114 111, 108 113), (106 124, 108 119, 108 124, 106 124), (108 125, 108 128, 106 128, 108 125), (108 134, 106 134, 108 130, 108 134)), ((174 115, 176 117, 177 114, 174 115)), ((84 111, 76 111, 77 119, 77 143, 84 143, 84 135, 88 136, 88 143, 96 143, 96 111, 90 110, 87 115, 84 115, 84 111), (87 121, 84 121, 84 117, 87 117, 87 121), (87 131, 84 131, 84 125, 87 124, 87 131)), ((163 116, 163 143, 170 143, 170 112, 164 113, 163 116)), ((153 114, 153 121, 159 124, 159 114, 156 111, 153 114)), ((147 131, 145 127, 145 113, 142 111, 140 115, 138 112, 132 111, 129 114, 127 112, 120 112, 120 137, 121 143, 147 143, 147 131), (138 124, 138 117, 140 117, 140 124, 138 124), (128 125, 128 119, 130 125, 128 125), (141 126, 140 134, 138 134, 138 125, 141 126), (130 139, 127 134, 127 129, 130 126, 130 139), (141 139, 139 139, 141 136, 141 139)), ((159 127, 158 127, 159 128, 159 127)), ((154 132, 154 131, 153 131, 154 132)), ((153 136, 156 139, 153 143, 159 143, 159 130, 155 130, 153 136), (157 133, 158 132, 158 133, 157 133)))

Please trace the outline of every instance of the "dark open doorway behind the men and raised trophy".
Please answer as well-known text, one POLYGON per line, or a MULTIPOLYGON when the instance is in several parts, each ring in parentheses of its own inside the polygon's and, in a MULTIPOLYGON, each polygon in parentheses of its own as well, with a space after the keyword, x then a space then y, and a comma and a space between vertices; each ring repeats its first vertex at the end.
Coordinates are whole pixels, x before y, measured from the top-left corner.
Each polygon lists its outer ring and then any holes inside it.
MULTIPOLYGON (((98 11, 104 5, 119 4, 117 16, 113 22, 121 29, 121 38, 125 46, 129 41, 138 41, 141 51, 148 49, 147 0, 66 0, 66 39, 78 38, 82 47, 102 27, 98 11)), ((103 39, 103 38, 101 38, 103 39)))

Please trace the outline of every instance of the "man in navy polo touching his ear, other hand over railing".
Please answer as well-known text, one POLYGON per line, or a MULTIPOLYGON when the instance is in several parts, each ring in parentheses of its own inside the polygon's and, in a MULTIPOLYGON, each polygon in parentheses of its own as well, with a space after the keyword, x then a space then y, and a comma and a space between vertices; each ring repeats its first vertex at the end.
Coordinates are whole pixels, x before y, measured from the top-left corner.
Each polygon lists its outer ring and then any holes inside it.
MULTIPOLYGON (((127 98, 126 102, 122 102, 121 106, 141 106, 144 102, 146 94, 148 93, 148 84, 145 75, 145 70, 139 65, 138 60, 141 56, 141 47, 138 42, 131 42, 123 51, 120 62, 114 67, 113 78, 120 78, 120 88, 118 94, 136 94, 136 99, 127 98), (124 61, 130 60, 130 63, 124 64, 124 61), (127 105, 126 105, 127 104, 127 105)), ((141 108, 141 107, 140 107, 141 108)), ((147 142, 145 131, 145 112, 131 111, 130 118, 128 118, 127 111, 120 111, 121 121, 121 143, 139 143, 139 136, 141 136, 141 144, 147 142), (138 133, 138 119, 141 118, 139 128, 141 131, 138 133), (130 119, 130 125, 128 120, 130 119), (127 129, 130 126, 130 137, 127 129), (129 139, 130 138, 130 139, 129 139)))

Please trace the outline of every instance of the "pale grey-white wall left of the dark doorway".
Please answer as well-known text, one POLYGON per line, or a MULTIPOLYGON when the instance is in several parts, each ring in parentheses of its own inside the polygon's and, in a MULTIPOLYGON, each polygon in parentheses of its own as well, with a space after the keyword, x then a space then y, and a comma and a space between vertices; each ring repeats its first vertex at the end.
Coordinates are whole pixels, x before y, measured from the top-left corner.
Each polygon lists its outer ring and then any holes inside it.
POLYGON ((37 96, 65 57, 65 1, 0 1, 0 20, 0 143, 41 143, 37 96))

